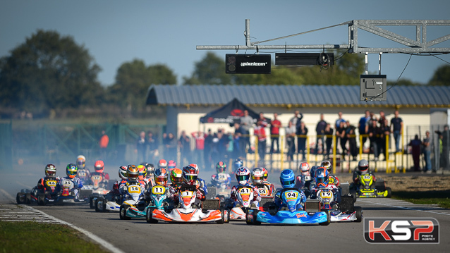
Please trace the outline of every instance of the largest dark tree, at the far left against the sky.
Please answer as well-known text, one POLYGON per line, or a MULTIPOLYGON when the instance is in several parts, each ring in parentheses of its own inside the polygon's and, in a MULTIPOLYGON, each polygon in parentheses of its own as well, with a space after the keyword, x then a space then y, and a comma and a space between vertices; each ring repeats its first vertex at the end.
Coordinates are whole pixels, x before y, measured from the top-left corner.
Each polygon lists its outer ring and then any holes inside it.
POLYGON ((31 112, 96 105, 99 66, 72 37, 37 30, 0 61, 0 103, 31 112))

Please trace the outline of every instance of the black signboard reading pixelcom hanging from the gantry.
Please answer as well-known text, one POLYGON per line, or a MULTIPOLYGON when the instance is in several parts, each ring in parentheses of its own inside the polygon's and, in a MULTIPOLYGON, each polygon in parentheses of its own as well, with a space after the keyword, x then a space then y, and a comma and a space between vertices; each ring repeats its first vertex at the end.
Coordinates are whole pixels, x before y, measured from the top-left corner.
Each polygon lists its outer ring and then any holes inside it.
POLYGON ((226 54, 227 74, 270 74, 270 54, 226 54))

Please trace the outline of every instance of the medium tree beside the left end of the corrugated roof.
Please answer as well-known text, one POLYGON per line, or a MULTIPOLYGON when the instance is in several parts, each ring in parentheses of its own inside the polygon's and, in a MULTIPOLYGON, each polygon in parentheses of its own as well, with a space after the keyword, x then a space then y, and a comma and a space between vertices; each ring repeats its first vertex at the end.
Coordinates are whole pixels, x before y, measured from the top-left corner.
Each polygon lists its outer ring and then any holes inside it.
POLYGON ((148 87, 152 84, 175 85, 176 75, 165 65, 147 67, 140 59, 123 63, 117 70, 116 82, 108 88, 109 102, 142 109, 148 87))

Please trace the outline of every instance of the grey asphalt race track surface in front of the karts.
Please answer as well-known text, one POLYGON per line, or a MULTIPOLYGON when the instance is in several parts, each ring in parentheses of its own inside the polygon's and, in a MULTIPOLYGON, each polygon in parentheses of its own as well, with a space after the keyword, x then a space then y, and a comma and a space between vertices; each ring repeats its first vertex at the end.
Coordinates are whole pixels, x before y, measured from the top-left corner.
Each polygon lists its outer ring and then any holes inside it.
MULTIPOLYGON (((15 204, 8 195, 15 197, 21 187, 9 182, 1 188, 0 204, 15 204)), ((248 226, 242 221, 150 225, 145 220, 122 221, 118 213, 96 213, 87 205, 32 207, 83 228, 123 252, 449 252, 450 210, 395 199, 358 199, 355 205, 363 207, 366 218, 436 218, 440 242, 369 244, 363 223, 353 222, 329 226, 248 226)))

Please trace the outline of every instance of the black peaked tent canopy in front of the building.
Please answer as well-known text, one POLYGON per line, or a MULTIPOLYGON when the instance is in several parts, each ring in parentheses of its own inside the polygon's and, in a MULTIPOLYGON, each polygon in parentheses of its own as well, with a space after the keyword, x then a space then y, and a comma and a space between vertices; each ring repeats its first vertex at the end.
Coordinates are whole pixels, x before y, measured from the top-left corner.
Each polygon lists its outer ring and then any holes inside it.
POLYGON ((200 118, 200 123, 239 123, 241 121, 241 117, 244 116, 245 110, 248 111, 248 115, 253 118, 254 122, 257 121, 257 118, 260 118, 259 113, 255 113, 255 111, 249 109, 245 106, 245 104, 242 104, 241 101, 234 98, 229 101, 228 104, 217 110, 210 111, 205 116, 200 118))

